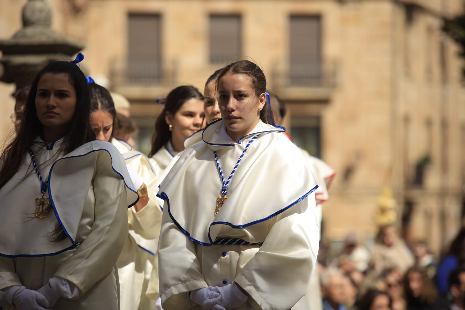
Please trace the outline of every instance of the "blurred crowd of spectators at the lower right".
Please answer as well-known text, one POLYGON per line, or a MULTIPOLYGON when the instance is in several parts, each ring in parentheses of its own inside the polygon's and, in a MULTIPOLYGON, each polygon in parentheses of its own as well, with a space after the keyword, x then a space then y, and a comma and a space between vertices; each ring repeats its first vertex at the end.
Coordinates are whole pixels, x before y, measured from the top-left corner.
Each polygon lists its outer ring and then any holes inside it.
POLYGON ((443 257, 387 225, 371 251, 349 234, 333 258, 322 243, 318 260, 324 310, 465 310, 465 228, 443 257))

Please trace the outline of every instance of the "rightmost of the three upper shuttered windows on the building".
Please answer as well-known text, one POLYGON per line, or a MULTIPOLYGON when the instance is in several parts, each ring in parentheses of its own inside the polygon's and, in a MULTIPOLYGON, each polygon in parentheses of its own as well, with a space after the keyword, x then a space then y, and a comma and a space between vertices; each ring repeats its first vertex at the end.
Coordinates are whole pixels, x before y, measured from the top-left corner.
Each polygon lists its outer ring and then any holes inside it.
POLYGON ((321 16, 291 15, 289 24, 289 83, 321 85, 321 16))

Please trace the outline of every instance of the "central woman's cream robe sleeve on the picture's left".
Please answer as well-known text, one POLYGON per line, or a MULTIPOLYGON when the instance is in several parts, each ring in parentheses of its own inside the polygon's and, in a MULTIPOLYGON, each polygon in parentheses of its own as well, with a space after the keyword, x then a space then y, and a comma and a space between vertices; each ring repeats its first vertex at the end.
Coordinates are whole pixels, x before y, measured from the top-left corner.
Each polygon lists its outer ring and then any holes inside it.
MULTIPOLYGON (((164 210, 168 208, 165 207, 164 210)), ((161 267, 159 289, 163 309, 189 309, 197 305, 181 293, 207 287, 208 284, 200 272, 194 243, 179 231, 167 211, 163 212, 158 253, 161 267)))

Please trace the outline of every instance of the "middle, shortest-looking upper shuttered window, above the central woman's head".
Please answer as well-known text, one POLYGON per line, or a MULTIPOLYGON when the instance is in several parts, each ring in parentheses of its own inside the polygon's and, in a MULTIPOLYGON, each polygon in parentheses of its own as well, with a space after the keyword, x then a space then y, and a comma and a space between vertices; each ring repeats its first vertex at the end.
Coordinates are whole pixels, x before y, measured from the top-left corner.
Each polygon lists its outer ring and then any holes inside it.
POLYGON ((240 15, 210 15, 210 63, 236 61, 240 58, 241 49, 240 15))

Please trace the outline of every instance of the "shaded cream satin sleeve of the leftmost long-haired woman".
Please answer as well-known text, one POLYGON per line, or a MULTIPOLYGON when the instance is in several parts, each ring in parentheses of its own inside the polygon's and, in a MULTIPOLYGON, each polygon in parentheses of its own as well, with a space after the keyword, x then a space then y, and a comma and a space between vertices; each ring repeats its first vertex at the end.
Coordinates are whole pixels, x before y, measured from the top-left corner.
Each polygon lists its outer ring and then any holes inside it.
POLYGON ((54 274, 75 284, 83 295, 113 269, 128 235, 124 182, 100 154, 93 191, 95 220, 91 232, 54 274))

